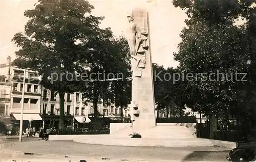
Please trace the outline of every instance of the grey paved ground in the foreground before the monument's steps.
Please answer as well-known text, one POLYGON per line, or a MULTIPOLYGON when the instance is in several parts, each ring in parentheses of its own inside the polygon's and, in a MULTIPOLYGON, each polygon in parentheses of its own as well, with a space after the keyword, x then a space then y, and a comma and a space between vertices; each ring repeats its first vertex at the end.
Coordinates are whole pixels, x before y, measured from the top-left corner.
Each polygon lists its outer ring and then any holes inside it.
POLYGON ((220 147, 129 147, 75 143, 73 141, 31 141, 5 144, 4 149, 38 154, 56 154, 110 159, 227 161, 228 149, 220 147))

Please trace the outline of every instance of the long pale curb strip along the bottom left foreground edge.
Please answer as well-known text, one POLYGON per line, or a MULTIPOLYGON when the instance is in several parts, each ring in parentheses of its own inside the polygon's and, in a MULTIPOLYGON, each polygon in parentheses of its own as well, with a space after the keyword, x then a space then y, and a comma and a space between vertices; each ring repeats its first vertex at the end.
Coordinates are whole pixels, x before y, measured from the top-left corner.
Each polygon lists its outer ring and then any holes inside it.
POLYGON ((13 151, 2 149, 0 150, 2 153, 10 152, 14 154, 20 155, 30 155, 30 156, 42 156, 48 158, 76 158, 76 159, 86 159, 86 160, 97 160, 97 161, 120 161, 120 162, 216 162, 216 161, 189 161, 189 160, 157 160, 157 159, 125 159, 125 158, 108 158, 108 157, 85 157, 85 156, 73 156, 73 155, 59 155, 59 154, 40 154, 40 153, 29 153, 29 152, 22 152, 22 151, 13 151))

